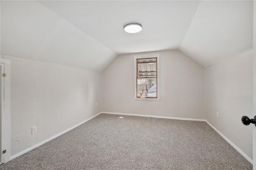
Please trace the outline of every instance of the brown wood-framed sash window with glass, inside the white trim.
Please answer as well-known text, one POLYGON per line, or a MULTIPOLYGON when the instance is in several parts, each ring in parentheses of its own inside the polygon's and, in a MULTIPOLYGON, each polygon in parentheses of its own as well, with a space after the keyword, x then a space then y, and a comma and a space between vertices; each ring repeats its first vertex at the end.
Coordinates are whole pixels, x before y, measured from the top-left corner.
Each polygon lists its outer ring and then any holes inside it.
POLYGON ((157 98, 157 57, 136 59, 136 97, 157 98))

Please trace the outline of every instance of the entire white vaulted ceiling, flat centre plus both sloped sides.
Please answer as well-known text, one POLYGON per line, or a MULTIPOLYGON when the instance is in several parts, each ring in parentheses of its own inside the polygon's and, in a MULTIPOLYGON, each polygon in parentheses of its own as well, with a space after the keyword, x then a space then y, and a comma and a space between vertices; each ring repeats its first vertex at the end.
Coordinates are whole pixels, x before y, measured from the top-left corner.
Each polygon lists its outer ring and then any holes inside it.
POLYGON ((253 1, 1 1, 1 53, 102 71, 180 49, 203 66, 252 48, 253 1), (124 32, 130 22, 137 34, 124 32))

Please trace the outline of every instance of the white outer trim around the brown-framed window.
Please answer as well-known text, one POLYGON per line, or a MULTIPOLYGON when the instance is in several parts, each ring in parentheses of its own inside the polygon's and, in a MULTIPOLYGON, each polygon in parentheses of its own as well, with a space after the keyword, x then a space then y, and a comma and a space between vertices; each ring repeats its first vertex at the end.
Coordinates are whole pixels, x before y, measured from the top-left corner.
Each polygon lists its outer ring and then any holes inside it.
POLYGON ((153 55, 136 55, 134 56, 134 100, 138 101, 160 101, 160 55, 153 54, 153 55), (137 59, 143 58, 155 58, 157 61, 156 65, 156 73, 157 73, 157 98, 141 98, 137 97, 137 59))

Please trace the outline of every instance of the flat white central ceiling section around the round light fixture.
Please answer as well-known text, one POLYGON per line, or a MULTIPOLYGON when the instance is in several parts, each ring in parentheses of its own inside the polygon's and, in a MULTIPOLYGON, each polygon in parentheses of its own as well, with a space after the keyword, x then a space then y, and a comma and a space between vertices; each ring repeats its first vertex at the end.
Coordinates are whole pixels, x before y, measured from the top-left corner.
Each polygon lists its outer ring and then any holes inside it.
POLYGON ((177 49, 199 1, 39 1, 118 54, 177 49), (138 34, 123 26, 139 22, 138 34))

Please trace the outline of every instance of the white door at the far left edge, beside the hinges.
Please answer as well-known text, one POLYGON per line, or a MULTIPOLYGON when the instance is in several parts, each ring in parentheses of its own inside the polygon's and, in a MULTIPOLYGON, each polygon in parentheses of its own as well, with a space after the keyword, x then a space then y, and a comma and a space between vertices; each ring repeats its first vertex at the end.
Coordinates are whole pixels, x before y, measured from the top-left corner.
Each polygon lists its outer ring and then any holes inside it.
MULTIPOLYGON (((4 74, 4 63, 0 63, 0 151, 2 151, 2 148, 4 148, 3 146, 3 138, 4 138, 4 132, 3 132, 3 117, 2 114, 4 113, 4 76, 2 76, 2 74, 4 74)), ((4 163, 4 154, 0 153, 0 164, 4 163)))

